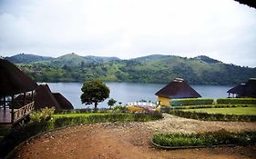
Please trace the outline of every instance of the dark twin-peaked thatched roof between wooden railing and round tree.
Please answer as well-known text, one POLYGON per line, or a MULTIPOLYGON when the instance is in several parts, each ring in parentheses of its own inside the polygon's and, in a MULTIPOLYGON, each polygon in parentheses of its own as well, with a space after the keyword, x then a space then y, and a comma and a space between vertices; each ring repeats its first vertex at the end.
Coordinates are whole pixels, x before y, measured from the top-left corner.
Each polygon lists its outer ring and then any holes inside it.
POLYGON ((40 84, 36 88, 35 108, 38 110, 45 107, 73 109, 73 105, 62 94, 53 94, 47 84, 40 84))

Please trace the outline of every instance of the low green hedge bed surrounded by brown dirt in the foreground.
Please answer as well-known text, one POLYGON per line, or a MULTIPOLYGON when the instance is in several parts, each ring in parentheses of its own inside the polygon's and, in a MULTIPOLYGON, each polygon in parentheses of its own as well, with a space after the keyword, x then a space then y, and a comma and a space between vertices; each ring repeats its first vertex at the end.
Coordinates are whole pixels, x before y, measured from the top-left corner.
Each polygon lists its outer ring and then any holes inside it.
POLYGON ((161 146, 254 145, 256 144, 256 132, 232 133, 220 130, 203 134, 154 134, 152 141, 161 146))

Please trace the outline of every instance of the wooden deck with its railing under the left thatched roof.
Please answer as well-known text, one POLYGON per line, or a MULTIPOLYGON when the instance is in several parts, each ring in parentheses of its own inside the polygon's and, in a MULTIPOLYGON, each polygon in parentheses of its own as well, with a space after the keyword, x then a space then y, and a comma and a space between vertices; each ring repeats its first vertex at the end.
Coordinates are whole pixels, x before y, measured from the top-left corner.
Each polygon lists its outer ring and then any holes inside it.
POLYGON ((12 110, 9 108, 0 108, 0 124, 15 124, 24 119, 28 114, 34 110, 34 102, 26 104, 25 106, 14 109, 14 121, 12 121, 12 110))

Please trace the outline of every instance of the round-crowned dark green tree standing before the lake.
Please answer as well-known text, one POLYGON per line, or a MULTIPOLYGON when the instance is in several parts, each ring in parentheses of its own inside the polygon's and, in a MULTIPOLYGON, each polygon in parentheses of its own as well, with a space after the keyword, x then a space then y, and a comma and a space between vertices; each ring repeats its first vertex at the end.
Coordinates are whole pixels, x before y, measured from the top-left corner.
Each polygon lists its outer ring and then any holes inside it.
POLYGON ((109 97, 109 88, 106 84, 98 79, 93 79, 83 84, 81 88, 82 104, 94 104, 95 112, 97 111, 97 104, 103 102, 109 97))

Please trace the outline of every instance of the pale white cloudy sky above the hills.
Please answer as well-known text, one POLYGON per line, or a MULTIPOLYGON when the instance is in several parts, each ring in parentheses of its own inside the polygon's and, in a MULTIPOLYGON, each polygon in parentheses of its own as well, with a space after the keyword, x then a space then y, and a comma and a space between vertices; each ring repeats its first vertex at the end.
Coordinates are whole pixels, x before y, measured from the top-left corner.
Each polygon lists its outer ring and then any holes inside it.
POLYGON ((0 55, 208 55, 256 67, 256 9, 233 0, 0 0, 0 55))

